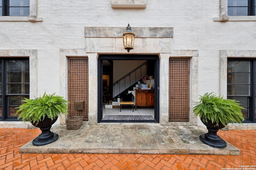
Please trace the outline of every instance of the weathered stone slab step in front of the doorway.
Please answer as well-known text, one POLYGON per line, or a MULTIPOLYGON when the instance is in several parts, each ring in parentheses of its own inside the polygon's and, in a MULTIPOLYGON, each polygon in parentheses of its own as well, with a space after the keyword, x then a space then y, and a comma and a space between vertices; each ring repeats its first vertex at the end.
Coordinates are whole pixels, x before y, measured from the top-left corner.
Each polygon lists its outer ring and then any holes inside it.
POLYGON ((201 126, 162 126, 158 123, 99 123, 66 129, 55 125, 59 139, 44 146, 32 141, 20 147, 20 153, 114 153, 114 154, 218 154, 239 155, 240 150, 227 143, 220 149, 199 139, 207 129, 201 126))

